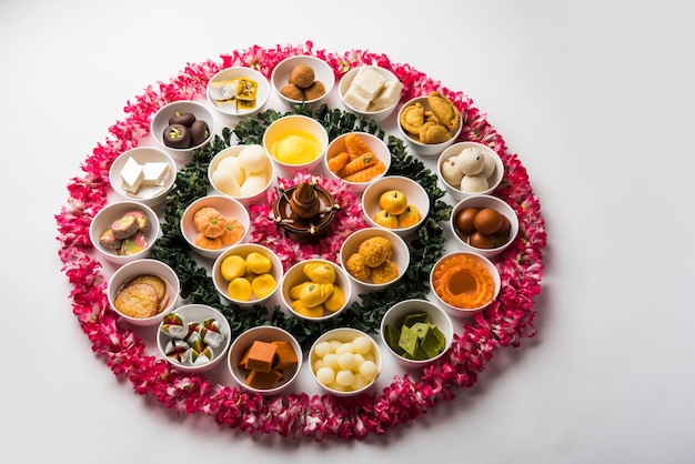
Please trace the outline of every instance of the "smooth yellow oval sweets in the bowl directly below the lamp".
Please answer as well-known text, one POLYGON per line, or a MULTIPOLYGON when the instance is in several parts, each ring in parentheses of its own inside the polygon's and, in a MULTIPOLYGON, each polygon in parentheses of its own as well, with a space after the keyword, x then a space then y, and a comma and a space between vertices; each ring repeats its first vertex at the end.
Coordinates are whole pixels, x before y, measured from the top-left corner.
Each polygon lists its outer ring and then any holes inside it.
POLYGON ((345 293, 331 264, 310 261, 302 271, 305 279, 290 288, 290 304, 294 312, 311 319, 323 317, 343 307, 345 293))

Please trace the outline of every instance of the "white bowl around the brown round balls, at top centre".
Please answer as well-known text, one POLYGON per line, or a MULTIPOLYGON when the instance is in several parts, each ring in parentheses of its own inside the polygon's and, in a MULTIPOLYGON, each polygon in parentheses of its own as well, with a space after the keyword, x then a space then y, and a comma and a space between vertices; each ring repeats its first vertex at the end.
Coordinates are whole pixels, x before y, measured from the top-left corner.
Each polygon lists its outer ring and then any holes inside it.
POLYGON ((318 108, 325 101, 328 95, 335 85, 335 72, 333 68, 320 58, 309 54, 299 54, 294 57, 288 57, 275 65, 270 77, 271 87, 280 100, 290 110, 294 109, 296 104, 308 104, 311 108, 318 108), (292 71, 298 65, 303 64, 310 67, 314 71, 314 81, 323 83, 325 92, 319 97, 310 99, 292 99, 282 94, 281 90, 290 83, 290 77, 292 71))

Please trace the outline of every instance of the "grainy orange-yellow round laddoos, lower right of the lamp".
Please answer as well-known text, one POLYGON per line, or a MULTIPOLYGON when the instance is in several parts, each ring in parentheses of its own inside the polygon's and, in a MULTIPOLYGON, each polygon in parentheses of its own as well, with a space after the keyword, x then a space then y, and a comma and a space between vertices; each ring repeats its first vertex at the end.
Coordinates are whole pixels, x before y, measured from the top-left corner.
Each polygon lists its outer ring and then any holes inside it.
POLYGON ((397 279, 399 268, 391 261, 393 245, 385 236, 371 236, 348 256, 345 270, 360 282, 382 284, 397 279))

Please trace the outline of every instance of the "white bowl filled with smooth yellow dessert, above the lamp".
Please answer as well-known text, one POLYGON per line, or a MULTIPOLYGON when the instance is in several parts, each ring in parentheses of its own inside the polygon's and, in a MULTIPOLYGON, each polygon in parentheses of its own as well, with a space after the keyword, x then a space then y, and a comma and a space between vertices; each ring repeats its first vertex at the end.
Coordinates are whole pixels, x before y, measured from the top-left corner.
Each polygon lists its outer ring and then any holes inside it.
POLYGON ((321 164, 328 145, 329 134, 325 128, 315 119, 301 114, 280 118, 263 133, 263 148, 275 165, 276 174, 288 178, 293 178, 296 171, 313 171, 321 164), (302 144, 299 148, 313 152, 305 153, 305 157, 296 161, 288 159, 288 154, 295 153, 292 150, 298 148, 294 142, 306 142, 306 145, 302 144))

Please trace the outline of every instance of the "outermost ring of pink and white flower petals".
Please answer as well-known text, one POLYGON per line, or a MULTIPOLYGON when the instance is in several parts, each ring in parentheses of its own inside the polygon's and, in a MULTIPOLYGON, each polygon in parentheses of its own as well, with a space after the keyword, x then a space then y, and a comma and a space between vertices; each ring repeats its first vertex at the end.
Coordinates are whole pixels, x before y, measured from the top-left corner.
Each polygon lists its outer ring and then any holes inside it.
POLYGON ((369 434, 384 434, 391 427, 415 420, 442 400, 454 397, 454 387, 472 386, 494 353, 504 346, 518 346, 532 337, 534 299, 541 292, 543 250, 546 244, 538 200, 533 194, 526 171, 516 155, 510 154, 503 138, 462 92, 443 88, 407 64, 392 63, 384 54, 349 51, 343 54, 303 46, 276 46, 223 54, 221 63, 208 60, 188 64, 170 82, 128 102, 128 117, 109 128, 111 137, 99 143, 81 165, 83 175, 70 180, 69 198, 56 215, 59 256, 62 271, 72 284, 72 312, 92 343, 92 351, 104 359, 114 375, 127 377, 139 394, 150 394, 179 414, 202 413, 220 426, 249 433, 276 433, 281 436, 322 440, 335 436, 361 440, 369 434), (111 162, 125 150, 138 145, 149 133, 149 121, 159 108, 174 100, 203 95, 214 73, 231 65, 252 67, 265 77, 286 57, 312 54, 326 61, 340 78, 350 68, 363 63, 391 70, 404 84, 407 98, 439 90, 461 110, 464 130, 460 140, 490 145, 505 165, 505 182, 496 194, 515 210, 520 233, 513 246, 496 261, 502 278, 498 299, 484 313, 455 335, 443 360, 419 373, 394 377, 376 394, 335 397, 305 393, 278 397, 252 395, 226 385, 213 385, 204 376, 173 370, 164 360, 145 354, 145 344, 128 326, 119 324, 109 307, 107 282, 101 263, 91 256, 89 225, 107 202, 108 171, 111 162))

